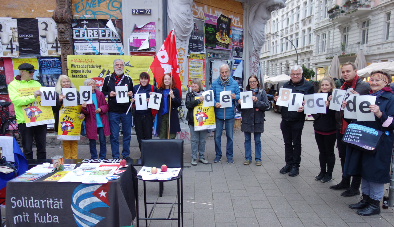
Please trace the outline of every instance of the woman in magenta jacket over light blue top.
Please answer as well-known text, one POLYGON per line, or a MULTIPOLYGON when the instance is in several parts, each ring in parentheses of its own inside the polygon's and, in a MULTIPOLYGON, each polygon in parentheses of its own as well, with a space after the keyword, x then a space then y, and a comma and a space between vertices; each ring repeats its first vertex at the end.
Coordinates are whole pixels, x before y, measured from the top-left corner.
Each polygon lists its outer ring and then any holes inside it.
POLYGON ((109 136, 110 125, 108 124, 108 103, 104 94, 96 90, 96 83, 93 79, 88 78, 84 81, 85 86, 92 86, 92 104, 82 105, 82 112, 85 114, 86 137, 89 139, 91 159, 97 159, 96 140, 100 140, 100 159, 105 159, 107 155, 107 146, 105 137, 109 136), (97 133, 99 137, 97 137, 97 133))

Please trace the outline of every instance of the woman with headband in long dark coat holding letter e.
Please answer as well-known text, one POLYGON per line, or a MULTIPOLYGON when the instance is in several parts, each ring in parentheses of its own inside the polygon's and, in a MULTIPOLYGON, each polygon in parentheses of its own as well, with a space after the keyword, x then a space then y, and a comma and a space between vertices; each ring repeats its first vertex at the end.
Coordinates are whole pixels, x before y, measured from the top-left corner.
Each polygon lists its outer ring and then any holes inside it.
MULTIPOLYGON (((388 87, 391 76, 386 72, 373 71, 370 78, 370 95, 376 96, 375 104, 369 106, 375 114, 375 121, 353 123, 371 127, 383 132, 383 140, 373 154, 347 146, 344 175, 361 174, 362 199, 351 204, 351 209, 358 209, 357 214, 369 216, 380 214, 380 200, 383 197, 385 183, 390 182, 390 162, 393 146, 394 95, 388 87)), ((342 103, 346 106, 346 102, 342 103)))

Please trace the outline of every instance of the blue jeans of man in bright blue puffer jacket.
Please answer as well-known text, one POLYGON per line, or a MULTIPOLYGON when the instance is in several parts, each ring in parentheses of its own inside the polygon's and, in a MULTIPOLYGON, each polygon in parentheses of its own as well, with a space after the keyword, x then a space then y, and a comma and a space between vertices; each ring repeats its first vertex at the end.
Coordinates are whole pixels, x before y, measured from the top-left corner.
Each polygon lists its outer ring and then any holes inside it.
POLYGON ((221 135, 223 133, 223 125, 226 125, 226 138, 227 138, 227 146, 226 146, 226 157, 232 158, 232 143, 233 143, 233 135, 234 135, 234 118, 229 120, 221 120, 215 118, 216 120, 216 129, 215 129, 215 151, 216 157, 221 158, 221 135))

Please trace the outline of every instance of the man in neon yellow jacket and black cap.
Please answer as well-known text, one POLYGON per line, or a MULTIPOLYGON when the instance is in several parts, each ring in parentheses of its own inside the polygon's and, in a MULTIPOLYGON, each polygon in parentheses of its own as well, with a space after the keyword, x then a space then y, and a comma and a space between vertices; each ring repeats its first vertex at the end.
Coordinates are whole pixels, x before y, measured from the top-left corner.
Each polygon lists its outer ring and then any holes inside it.
POLYGON ((18 89, 28 87, 41 87, 38 81, 33 80, 34 66, 29 63, 19 65, 19 75, 8 85, 9 99, 15 106, 15 115, 20 135, 22 137, 23 154, 26 159, 33 159, 33 138, 37 147, 37 159, 46 159, 46 124, 26 127, 22 105, 32 103, 37 96, 41 96, 40 90, 34 95, 21 97, 18 89))

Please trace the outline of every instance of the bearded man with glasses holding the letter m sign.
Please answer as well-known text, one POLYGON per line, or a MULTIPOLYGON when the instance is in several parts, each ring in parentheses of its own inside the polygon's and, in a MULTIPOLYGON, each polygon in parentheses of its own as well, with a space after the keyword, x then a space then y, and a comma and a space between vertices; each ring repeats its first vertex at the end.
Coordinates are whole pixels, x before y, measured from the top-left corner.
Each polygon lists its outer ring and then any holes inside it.
POLYGON ((123 129, 123 149, 122 158, 130 159, 130 140, 131 140, 131 111, 126 114, 130 106, 130 97, 133 95, 133 80, 126 76, 123 71, 125 70, 125 62, 122 59, 115 59, 113 61, 113 73, 104 78, 101 92, 108 97, 108 119, 110 123, 110 141, 112 157, 119 159, 119 123, 122 122, 123 129), (116 86, 127 86, 129 102, 117 103, 116 102, 116 86))

